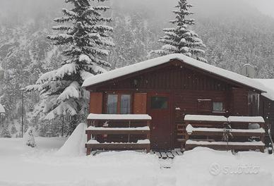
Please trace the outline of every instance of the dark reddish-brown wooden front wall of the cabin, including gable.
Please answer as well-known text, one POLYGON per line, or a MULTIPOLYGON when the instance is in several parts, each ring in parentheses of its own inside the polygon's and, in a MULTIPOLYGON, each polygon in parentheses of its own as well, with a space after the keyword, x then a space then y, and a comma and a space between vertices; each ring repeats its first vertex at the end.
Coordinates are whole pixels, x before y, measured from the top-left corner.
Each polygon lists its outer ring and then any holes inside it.
MULTIPOLYGON (((177 124, 184 122, 186 114, 249 116, 248 88, 185 64, 180 63, 178 66, 176 61, 117 80, 109 80, 93 86, 93 91, 104 92, 103 108, 109 92, 131 94, 132 113, 136 111, 136 93, 169 93, 173 147, 179 147, 176 140, 177 124), (223 111, 214 112, 213 102, 222 102, 223 111)), ((105 112, 106 109, 103 109, 103 113, 105 112)))

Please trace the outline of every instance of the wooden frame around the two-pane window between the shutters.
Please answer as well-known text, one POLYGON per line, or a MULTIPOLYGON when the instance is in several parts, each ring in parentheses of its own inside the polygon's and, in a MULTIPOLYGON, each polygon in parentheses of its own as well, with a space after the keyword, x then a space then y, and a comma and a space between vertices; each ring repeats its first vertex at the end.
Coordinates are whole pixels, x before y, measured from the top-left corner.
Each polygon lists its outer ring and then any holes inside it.
POLYGON ((107 99, 109 94, 117 95, 117 113, 114 114, 131 114, 133 111, 133 94, 131 92, 105 92, 104 97, 104 113, 107 113, 107 99), (130 96, 130 106, 129 113, 121 113, 121 95, 129 95, 130 96))

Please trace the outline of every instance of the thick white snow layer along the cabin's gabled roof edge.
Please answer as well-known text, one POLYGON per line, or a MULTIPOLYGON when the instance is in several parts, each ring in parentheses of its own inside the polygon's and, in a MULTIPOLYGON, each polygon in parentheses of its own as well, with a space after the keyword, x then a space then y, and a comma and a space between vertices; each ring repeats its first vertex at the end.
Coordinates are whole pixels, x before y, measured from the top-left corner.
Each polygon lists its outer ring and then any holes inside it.
POLYGON ((117 77, 122 77, 124 75, 136 73, 138 71, 145 70, 147 68, 152 68, 155 66, 159 66, 164 63, 169 63, 169 61, 172 59, 178 59, 190 66, 199 68, 201 70, 205 70, 208 73, 215 74, 220 77, 224 77, 228 80, 232 80, 232 81, 238 82, 242 85, 246 85, 248 87, 252 87, 254 89, 258 89, 258 90, 261 90, 262 92, 265 92, 265 89, 264 89, 263 85, 261 85, 261 83, 256 82, 249 77, 245 77, 244 75, 239 75, 237 73, 233 73, 232 71, 218 68, 216 66, 211 66, 208 63, 203 63, 201 61, 197 61, 196 59, 190 58, 189 56, 185 56, 183 54, 169 54, 167 56, 153 58, 148 61, 136 63, 131 66, 117 68, 115 70, 111 70, 111 71, 108 71, 107 73, 102 73, 100 75, 94 75, 92 77, 89 77, 87 80, 85 80, 83 82, 82 87, 96 85, 98 83, 105 82, 107 80, 113 80, 117 77))

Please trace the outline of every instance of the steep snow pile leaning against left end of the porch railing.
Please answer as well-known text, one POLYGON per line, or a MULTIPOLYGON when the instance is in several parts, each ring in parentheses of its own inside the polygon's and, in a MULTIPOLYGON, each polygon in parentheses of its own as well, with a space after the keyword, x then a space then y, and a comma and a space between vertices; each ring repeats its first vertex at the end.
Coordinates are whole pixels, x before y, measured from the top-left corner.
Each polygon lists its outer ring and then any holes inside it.
POLYGON ((87 125, 80 123, 76 129, 72 132, 71 136, 68 137, 63 147, 56 151, 57 156, 82 156, 85 155, 85 142, 87 137, 85 130, 87 125))

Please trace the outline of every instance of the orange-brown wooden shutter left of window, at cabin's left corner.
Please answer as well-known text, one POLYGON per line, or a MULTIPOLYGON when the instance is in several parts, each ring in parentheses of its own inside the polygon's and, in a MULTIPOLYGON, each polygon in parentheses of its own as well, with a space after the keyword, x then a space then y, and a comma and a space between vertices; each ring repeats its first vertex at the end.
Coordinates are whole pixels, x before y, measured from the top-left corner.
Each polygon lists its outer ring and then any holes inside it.
POLYGON ((102 92, 90 92, 90 113, 102 113, 102 92))

